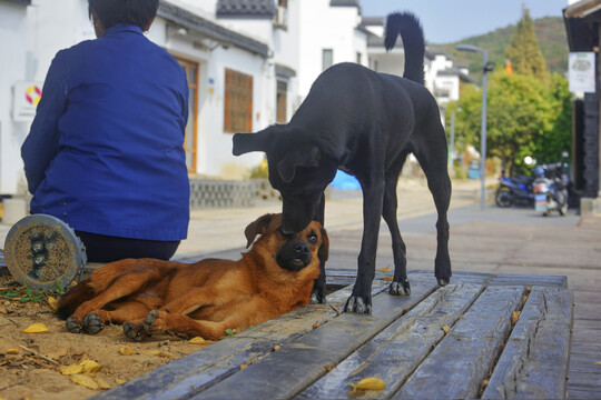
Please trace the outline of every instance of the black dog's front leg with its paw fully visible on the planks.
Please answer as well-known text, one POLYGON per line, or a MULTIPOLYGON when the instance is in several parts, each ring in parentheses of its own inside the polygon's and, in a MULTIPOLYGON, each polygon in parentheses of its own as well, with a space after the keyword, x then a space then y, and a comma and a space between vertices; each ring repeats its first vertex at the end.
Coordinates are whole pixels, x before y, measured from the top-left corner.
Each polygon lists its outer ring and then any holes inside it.
POLYGON ((375 277, 377 234, 382 217, 384 181, 363 187, 363 239, 357 259, 358 271, 353 294, 346 301, 345 312, 372 312, 372 282, 375 277))

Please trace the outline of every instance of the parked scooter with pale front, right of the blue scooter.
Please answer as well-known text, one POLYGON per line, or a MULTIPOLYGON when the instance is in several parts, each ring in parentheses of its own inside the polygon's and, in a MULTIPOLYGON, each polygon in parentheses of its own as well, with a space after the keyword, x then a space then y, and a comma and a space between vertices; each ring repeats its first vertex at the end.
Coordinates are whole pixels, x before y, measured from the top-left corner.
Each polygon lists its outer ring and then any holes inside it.
POLYGON ((562 171, 562 163, 543 164, 545 173, 534 180, 534 209, 548 217, 553 211, 568 213, 568 187, 570 178, 562 171))

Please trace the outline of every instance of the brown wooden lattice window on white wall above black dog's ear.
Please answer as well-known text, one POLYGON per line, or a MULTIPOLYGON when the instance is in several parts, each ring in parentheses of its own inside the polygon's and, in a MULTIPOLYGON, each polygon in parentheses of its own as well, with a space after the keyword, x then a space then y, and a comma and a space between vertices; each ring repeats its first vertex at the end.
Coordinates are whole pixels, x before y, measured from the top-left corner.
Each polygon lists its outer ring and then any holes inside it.
POLYGON ((226 69, 224 131, 253 131, 253 77, 226 69))

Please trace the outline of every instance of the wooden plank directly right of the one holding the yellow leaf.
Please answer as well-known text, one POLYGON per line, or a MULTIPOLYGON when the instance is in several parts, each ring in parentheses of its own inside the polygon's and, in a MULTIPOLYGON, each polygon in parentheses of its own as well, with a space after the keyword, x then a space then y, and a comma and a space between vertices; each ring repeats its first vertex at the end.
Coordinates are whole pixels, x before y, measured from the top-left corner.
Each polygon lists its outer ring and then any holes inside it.
POLYGON ((524 292, 524 287, 487 287, 393 399, 475 398, 524 292))

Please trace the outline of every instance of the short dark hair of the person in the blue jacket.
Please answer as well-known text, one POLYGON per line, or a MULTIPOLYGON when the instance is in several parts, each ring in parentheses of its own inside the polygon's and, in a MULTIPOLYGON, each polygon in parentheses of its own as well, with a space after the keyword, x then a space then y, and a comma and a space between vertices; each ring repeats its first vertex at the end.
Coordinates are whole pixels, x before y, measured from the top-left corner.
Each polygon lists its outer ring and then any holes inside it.
POLYGON ((144 30, 156 17, 158 4, 159 0, 88 0, 88 12, 91 19, 96 11, 105 29, 127 23, 144 30))

